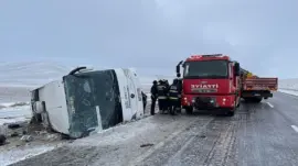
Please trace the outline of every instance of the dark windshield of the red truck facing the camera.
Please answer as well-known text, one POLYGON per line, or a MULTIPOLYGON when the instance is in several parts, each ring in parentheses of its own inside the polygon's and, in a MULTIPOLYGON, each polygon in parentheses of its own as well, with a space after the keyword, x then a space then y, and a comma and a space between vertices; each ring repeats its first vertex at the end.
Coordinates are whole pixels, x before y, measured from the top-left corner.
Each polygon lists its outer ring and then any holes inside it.
POLYGON ((227 78, 227 60, 185 62, 184 78, 227 78))

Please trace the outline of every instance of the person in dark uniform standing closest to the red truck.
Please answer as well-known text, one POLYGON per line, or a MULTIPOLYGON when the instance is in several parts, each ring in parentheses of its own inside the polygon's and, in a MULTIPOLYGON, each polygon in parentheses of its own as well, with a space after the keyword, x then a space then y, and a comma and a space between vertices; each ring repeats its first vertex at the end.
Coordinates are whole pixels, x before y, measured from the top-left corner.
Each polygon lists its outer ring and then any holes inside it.
POLYGON ((179 109, 179 81, 178 79, 173 80, 173 84, 170 86, 169 90, 169 103, 170 103, 170 113, 172 115, 177 114, 177 109, 179 109))

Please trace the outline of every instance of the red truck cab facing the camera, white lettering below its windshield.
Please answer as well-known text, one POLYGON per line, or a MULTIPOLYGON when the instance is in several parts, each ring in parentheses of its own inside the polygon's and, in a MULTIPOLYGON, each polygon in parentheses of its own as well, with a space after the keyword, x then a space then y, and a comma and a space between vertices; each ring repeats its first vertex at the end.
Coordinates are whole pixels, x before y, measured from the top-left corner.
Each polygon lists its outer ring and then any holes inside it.
POLYGON ((240 104, 240 75, 237 62, 222 54, 193 55, 177 66, 177 77, 183 67, 181 104, 188 113, 193 109, 226 110, 234 115, 240 104))

